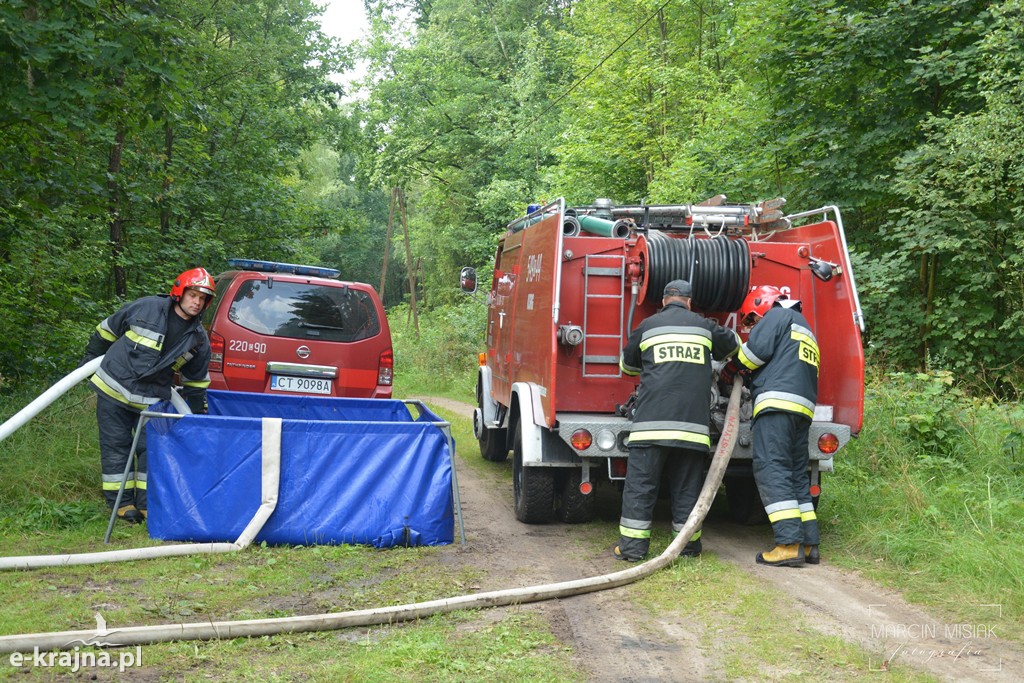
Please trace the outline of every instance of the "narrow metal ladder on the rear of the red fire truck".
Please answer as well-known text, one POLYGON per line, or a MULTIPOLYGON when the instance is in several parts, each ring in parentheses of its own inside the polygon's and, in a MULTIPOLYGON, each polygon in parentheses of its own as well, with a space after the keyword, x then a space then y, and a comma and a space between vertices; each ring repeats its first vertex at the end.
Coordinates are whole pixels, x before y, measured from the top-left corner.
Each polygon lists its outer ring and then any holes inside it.
POLYGON ((626 257, 588 254, 584 258, 583 292, 583 376, 622 377, 618 355, 624 343, 626 257), (607 311, 608 306, 616 311, 617 317, 600 314, 607 311), (611 349, 614 349, 613 354, 609 353, 611 349), (610 372, 608 366, 611 366, 610 372))

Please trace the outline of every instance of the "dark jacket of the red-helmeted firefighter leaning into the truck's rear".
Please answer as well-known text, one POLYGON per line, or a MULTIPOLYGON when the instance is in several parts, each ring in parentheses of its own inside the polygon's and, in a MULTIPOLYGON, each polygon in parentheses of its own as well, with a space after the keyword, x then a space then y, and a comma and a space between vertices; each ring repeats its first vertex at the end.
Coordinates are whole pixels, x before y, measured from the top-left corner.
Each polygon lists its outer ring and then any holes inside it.
POLYGON ((818 342, 806 317, 777 303, 769 308, 737 356, 754 371, 754 417, 781 411, 813 420, 819 357, 818 342))

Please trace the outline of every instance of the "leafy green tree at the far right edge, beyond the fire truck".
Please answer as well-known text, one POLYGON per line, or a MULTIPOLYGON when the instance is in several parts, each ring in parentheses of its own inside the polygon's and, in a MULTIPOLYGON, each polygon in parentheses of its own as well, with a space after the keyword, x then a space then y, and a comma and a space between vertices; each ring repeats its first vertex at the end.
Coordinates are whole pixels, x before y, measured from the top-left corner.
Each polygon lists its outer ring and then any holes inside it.
POLYGON ((884 232, 896 266, 888 300, 909 295, 923 305, 894 311, 877 335, 1002 390, 1021 386, 1024 359, 1022 10, 1020 0, 994 7, 978 43, 983 105, 932 117, 926 139, 900 159, 904 207, 884 232), (920 345, 900 343, 907 329, 920 330, 920 345))

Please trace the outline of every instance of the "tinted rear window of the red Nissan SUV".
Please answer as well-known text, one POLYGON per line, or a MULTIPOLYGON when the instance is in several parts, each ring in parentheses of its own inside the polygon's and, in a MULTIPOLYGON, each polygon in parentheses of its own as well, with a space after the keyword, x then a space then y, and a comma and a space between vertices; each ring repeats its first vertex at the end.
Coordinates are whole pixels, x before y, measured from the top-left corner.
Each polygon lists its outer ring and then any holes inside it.
POLYGON ((296 339, 354 342, 381 331, 368 292, 280 280, 243 282, 227 317, 257 334, 296 339))

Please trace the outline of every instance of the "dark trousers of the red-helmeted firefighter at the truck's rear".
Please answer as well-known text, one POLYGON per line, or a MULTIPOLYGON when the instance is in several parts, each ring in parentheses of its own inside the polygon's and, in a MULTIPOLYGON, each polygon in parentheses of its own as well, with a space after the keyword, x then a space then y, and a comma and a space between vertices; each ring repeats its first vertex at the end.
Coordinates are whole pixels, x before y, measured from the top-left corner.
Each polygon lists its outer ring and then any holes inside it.
POLYGON ((811 421, 796 413, 764 413, 754 420, 754 480, 778 545, 818 545, 807 476, 810 428, 811 421))

